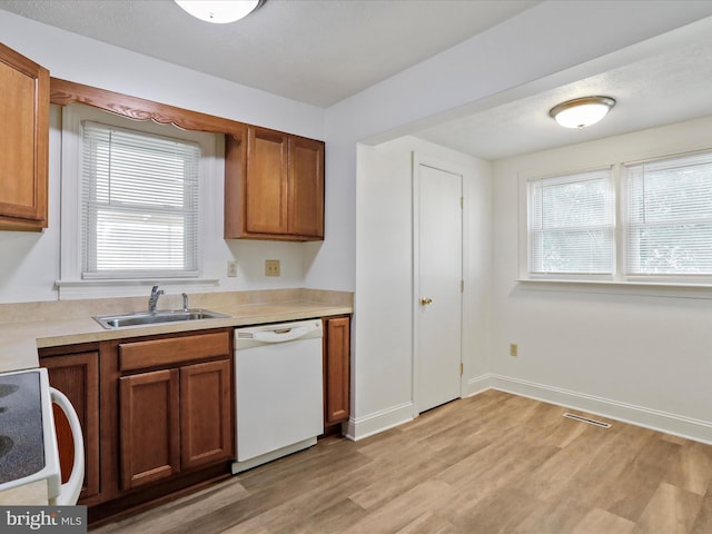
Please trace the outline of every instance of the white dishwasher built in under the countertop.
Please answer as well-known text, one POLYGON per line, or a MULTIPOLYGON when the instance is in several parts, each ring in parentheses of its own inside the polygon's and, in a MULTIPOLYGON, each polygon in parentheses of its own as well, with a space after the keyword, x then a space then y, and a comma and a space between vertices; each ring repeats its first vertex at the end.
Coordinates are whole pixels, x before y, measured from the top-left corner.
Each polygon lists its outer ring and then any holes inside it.
POLYGON ((324 432, 322 319, 235 329, 233 473, 316 444, 324 432))

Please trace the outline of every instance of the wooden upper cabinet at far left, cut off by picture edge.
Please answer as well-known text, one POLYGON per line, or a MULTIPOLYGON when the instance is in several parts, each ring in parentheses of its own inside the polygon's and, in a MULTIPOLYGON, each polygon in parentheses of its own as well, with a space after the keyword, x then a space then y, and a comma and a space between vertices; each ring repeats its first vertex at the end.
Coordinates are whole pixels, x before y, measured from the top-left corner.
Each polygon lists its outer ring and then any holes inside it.
POLYGON ((47 228, 49 71, 0 44, 0 229, 47 228))

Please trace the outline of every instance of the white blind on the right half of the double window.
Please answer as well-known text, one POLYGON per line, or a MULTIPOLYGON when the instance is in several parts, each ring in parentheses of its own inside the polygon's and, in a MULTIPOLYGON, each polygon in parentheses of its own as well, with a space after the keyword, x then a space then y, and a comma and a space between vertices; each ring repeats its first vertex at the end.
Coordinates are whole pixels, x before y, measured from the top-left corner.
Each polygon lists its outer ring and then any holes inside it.
POLYGON ((712 152, 624 167, 629 275, 712 275, 712 152))

